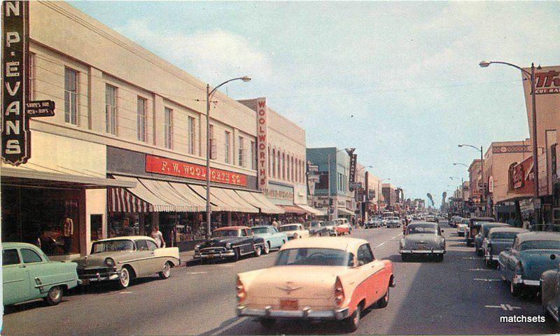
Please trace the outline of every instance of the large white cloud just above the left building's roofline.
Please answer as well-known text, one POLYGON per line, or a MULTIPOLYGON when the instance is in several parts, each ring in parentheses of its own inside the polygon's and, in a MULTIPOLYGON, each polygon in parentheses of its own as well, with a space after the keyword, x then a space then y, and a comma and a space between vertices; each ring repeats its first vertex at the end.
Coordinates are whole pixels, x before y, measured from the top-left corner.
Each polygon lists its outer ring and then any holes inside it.
POLYGON ((131 19, 116 28, 134 41, 210 83, 235 76, 272 76, 269 57, 244 36, 214 29, 183 33, 151 29, 144 19, 131 19))

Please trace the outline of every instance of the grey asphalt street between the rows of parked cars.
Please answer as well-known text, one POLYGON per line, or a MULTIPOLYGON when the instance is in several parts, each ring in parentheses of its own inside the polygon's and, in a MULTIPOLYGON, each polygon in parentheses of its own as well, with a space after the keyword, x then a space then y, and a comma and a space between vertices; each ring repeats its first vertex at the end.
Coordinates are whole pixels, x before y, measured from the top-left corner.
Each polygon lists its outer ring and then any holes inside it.
MULTIPOLYGON (((397 286, 389 304, 371 309, 360 334, 552 334, 550 323, 500 323, 500 316, 538 316, 534 295, 512 297, 495 269, 484 267, 454 228, 444 228, 443 262, 401 262, 402 229, 360 229, 376 258, 393 261, 397 286)), ((3 316, 3 335, 254 335, 342 334, 339 323, 281 321, 266 330, 253 318, 235 316, 235 276, 269 267, 276 253, 238 262, 172 269, 172 276, 140 279, 127 290, 92 286, 73 290, 56 307, 20 304, 3 316)))

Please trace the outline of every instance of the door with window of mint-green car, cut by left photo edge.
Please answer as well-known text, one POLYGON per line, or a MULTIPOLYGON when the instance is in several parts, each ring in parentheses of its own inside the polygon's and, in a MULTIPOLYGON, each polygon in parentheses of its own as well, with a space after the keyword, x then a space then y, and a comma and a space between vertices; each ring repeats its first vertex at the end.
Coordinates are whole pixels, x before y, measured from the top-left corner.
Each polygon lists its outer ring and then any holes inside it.
POLYGON ((2 250, 3 304, 15 304, 30 300, 29 276, 23 265, 18 248, 2 250))

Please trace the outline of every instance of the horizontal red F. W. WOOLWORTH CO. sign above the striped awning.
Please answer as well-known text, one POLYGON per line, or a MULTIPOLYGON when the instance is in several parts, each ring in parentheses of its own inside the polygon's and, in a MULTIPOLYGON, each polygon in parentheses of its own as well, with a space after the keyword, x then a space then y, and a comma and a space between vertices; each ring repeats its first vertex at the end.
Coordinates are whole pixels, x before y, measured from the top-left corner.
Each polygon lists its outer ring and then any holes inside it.
MULTIPOLYGON (((146 154, 146 172, 179 176, 186 179, 206 180, 206 167, 204 166, 148 154, 146 154)), ((210 181, 234 186, 247 186, 247 176, 222 169, 210 168, 210 181)))

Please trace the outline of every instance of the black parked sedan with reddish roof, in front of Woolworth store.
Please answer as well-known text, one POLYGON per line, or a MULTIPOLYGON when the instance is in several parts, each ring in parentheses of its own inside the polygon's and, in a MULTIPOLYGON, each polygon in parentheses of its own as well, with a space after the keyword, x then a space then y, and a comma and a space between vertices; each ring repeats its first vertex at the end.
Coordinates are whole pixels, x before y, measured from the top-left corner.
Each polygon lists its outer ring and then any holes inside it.
POLYGON ((244 255, 256 257, 265 251, 265 239, 253 235, 246 226, 226 226, 212 232, 212 236, 195 246, 195 260, 231 259, 239 260, 244 255))

